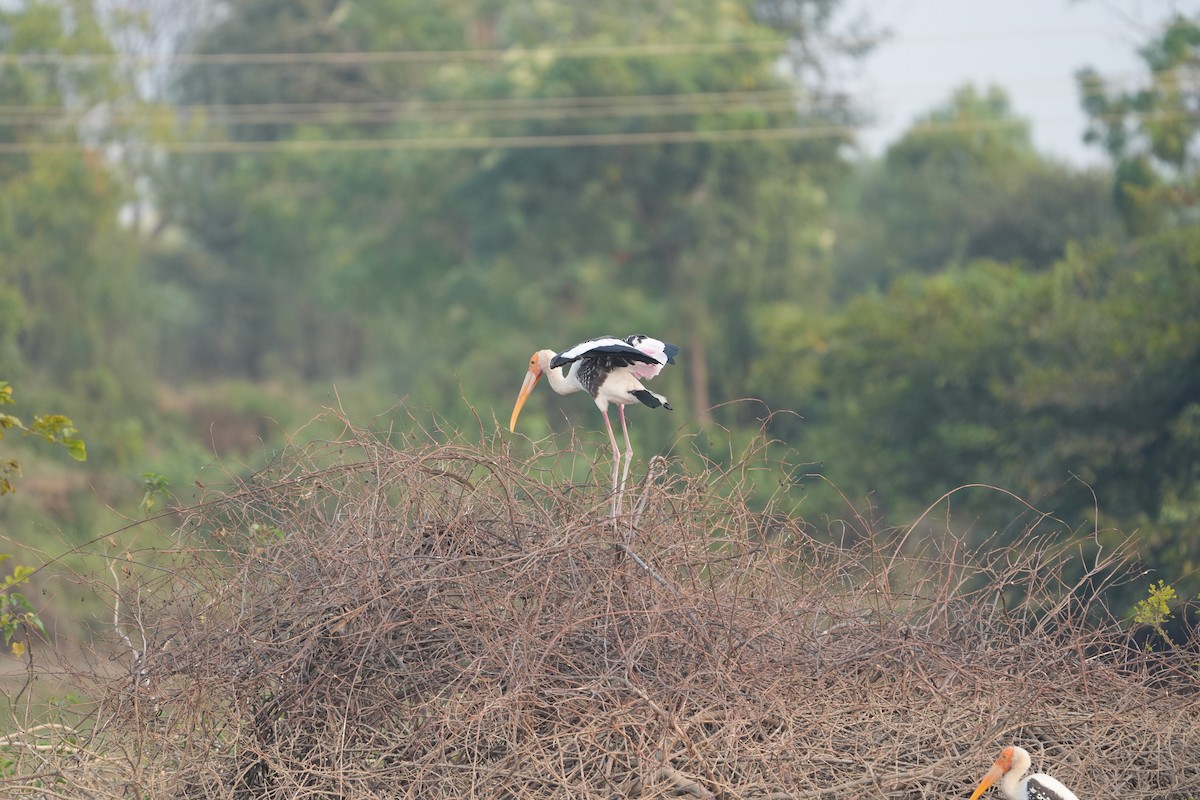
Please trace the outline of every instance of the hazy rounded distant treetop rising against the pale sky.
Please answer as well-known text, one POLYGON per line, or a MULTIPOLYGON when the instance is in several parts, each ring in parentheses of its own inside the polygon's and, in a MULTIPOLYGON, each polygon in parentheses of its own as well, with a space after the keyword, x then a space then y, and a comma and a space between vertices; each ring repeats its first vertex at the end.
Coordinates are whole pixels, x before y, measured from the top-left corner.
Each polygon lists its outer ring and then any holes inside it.
MULTIPOLYGON (((976 258, 1044 269, 1070 241, 1116 233, 1105 178, 1043 160, 1008 95, 964 86, 852 184, 840 215, 844 294, 976 258)), ((846 191, 846 190, 844 190, 846 191)))

